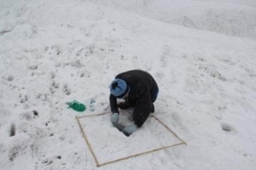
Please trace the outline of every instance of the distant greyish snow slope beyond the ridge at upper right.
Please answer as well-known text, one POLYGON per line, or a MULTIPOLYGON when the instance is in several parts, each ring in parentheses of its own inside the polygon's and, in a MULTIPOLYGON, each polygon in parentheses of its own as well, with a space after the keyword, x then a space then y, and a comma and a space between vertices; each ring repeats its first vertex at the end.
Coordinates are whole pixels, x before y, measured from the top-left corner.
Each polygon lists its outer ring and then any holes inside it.
MULTIPOLYGON (((90 0, 89 0, 90 1, 90 0)), ((96 0, 98 4, 120 8, 160 20, 198 30, 214 31, 236 37, 256 38, 256 2, 196 0, 96 0)))

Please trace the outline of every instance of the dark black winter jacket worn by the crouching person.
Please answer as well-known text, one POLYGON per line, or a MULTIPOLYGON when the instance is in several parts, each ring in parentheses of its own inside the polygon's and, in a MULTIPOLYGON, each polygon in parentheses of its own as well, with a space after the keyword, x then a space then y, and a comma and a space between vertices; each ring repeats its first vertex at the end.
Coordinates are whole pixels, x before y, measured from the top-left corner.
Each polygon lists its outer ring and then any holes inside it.
MULTIPOLYGON (((141 127, 148 118, 158 93, 158 86, 154 78, 146 71, 134 70, 120 73, 115 78, 125 80, 131 91, 125 101, 134 107, 133 120, 137 127, 141 127)), ((112 112, 118 112, 117 98, 110 94, 110 107, 112 112)))

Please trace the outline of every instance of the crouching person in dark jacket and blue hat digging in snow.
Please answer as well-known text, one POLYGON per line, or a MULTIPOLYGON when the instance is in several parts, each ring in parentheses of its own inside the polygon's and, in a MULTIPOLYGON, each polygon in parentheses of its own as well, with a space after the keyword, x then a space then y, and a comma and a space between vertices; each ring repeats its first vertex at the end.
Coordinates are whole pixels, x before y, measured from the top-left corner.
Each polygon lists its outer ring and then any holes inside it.
POLYGON ((133 70, 120 73, 110 84, 111 122, 114 127, 130 136, 147 120, 150 112, 154 112, 154 101, 159 88, 154 78, 146 71, 133 70), (117 99, 124 102, 117 103, 117 99), (132 118, 134 124, 127 127, 119 125, 119 110, 134 108, 132 118))

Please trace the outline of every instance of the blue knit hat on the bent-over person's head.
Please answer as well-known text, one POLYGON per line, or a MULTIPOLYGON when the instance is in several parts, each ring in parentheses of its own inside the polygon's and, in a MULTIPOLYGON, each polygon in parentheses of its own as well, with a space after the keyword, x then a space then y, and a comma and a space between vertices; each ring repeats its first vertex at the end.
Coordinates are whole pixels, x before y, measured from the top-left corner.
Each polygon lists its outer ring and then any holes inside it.
POLYGON ((117 98, 123 98, 130 92, 129 85, 122 79, 116 78, 109 86, 110 93, 117 98))

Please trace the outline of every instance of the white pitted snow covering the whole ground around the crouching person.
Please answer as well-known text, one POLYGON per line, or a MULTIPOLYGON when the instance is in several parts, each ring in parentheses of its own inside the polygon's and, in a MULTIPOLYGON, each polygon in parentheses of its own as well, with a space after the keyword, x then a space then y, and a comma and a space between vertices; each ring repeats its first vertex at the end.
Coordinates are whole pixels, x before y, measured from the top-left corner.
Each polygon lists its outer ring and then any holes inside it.
MULTIPOLYGON (((0 0, 1 169, 256 169, 256 3, 214 2, 0 0), (96 167, 75 116, 109 111, 132 69, 155 77, 154 116, 187 145, 96 167)), ((160 138, 152 120, 126 138, 102 117, 99 147, 160 138)))

